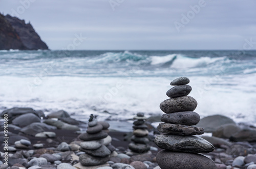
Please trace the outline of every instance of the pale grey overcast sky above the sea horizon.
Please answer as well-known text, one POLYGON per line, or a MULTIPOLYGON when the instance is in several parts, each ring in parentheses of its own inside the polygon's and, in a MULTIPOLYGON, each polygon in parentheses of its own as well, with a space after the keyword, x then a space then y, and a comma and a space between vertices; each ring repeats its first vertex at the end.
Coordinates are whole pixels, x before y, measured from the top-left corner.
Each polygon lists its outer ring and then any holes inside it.
POLYGON ((238 50, 245 39, 256 49, 255 7, 255 0, 0 0, 1 13, 30 21, 50 49, 238 50))

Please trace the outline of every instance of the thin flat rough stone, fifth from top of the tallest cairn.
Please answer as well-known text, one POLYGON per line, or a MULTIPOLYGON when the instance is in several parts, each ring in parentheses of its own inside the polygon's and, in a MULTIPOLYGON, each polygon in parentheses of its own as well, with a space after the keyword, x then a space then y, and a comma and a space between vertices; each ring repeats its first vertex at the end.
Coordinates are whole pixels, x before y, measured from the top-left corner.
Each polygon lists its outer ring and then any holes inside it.
POLYGON ((184 126, 180 124, 159 123, 157 130, 167 134, 201 135, 204 129, 201 127, 184 126))

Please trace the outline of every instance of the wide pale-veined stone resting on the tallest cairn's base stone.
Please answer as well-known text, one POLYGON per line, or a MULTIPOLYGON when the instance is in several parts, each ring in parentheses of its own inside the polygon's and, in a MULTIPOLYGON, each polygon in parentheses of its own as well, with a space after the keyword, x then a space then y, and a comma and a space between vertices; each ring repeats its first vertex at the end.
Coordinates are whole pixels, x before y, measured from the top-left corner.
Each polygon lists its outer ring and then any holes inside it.
POLYGON ((160 134, 154 142, 161 149, 177 152, 209 153, 215 149, 205 139, 194 135, 160 134))

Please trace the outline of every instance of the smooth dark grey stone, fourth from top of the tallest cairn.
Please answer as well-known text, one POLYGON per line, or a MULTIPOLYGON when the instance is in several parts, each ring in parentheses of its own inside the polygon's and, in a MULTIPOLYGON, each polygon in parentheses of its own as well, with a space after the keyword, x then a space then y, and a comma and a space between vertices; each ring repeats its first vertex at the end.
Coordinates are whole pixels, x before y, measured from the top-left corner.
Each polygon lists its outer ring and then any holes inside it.
POLYGON ((180 111, 172 114, 163 114, 161 116, 161 121, 165 123, 192 126, 198 124, 200 116, 194 111, 180 111))

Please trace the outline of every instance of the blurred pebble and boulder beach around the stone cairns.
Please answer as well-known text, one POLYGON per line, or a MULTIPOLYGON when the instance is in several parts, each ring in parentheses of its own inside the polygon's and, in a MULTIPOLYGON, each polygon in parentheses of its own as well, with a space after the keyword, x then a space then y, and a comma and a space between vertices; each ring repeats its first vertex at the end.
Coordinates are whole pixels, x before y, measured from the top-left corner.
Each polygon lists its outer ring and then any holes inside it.
MULTIPOLYGON (((73 119, 63 110, 45 117, 42 111, 32 108, 12 108, 3 111, 1 116, 0 168, 160 168, 156 162, 156 154, 162 149, 153 143, 160 133, 150 125, 150 120, 145 121, 149 131, 150 151, 131 153, 129 144, 133 133, 109 131, 111 144, 115 147, 110 159, 103 165, 88 167, 82 166, 79 161, 79 156, 84 154, 79 150, 83 142, 79 139, 79 134, 87 129, 86 122, 73 119), (5 125, 7 115, 8 126, 5 125), (5 151, 5 126, 8 128, 8 151, 5 151), (8 165, 5 164, 6 154, 8 165)), ((217 168, 256 167, 255 127, 236 124, 221 115, 203 118, 197 127, 212 132, 212 136, 208 134, 202 138, 214 145, 215 150, 203 155, 214 161, 217 168)))

